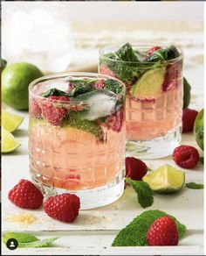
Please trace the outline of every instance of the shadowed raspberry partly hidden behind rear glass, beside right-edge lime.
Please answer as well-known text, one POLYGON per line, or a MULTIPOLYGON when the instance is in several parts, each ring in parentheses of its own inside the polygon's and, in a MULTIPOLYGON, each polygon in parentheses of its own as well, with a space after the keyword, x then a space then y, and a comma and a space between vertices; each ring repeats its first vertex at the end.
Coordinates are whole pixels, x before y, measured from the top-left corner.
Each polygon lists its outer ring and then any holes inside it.
POLYGON ((196 110, 182 110, 182 132, 192 132, 198 112, 196 110))

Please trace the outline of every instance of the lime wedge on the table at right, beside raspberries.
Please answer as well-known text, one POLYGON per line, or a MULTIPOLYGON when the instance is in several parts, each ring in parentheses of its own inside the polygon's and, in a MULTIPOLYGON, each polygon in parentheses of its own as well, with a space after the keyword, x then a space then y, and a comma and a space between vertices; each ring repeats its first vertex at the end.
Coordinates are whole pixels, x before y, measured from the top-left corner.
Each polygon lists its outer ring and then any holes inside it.
POLYGON ((142 180, 157 193, 173 193, 183 187, 185 173, 170 165, 164 165, 144 176, 142 180))

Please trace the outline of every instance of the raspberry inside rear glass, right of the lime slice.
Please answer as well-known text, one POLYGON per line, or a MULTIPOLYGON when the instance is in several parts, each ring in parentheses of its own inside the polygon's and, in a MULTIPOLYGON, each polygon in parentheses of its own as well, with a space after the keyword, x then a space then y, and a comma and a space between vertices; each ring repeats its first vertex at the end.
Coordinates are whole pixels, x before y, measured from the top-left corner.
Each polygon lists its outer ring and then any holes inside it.
POLYGON ((169 64, 167 66, 164 82, 162 85, 163 91, 177 87, 177 85, 179 84, 178 78, 181 77, 181 70, 182 68, 180 62, 176 62, 175 64, 169 64))

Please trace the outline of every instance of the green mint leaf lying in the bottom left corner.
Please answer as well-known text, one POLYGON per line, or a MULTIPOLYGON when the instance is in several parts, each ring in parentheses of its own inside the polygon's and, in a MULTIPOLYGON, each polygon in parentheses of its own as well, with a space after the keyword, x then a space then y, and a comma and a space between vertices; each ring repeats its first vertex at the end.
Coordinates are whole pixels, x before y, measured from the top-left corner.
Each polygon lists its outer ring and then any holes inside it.
POLYGON ((30 243, 30 242, 38 241, 37 237, 28 233, 5 232, 3 234, 3 243, 6 245, 6 242, 10 238, 15 238, 18 243, 30 243))

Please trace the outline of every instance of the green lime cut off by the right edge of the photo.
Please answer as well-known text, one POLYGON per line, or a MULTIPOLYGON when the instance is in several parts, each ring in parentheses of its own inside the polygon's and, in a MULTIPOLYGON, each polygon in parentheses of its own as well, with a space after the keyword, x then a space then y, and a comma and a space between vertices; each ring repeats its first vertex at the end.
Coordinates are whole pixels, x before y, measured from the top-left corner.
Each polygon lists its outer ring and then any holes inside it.
POLYGON ((196 143, 202 150, 204 150, 204 110, 201 110, 196 116, 194 135, 196 143))

